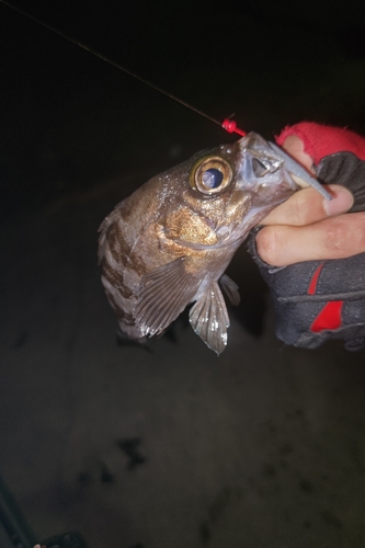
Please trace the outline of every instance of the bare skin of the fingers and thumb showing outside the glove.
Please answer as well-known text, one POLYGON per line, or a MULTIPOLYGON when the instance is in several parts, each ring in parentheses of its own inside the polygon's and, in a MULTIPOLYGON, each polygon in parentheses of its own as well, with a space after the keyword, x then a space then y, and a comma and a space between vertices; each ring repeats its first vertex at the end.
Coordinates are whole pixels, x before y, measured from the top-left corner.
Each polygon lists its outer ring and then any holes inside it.
MULTIPOLYGON (((288 136, 283 148, 313 173, 312 159, 304 151, 299 137, 288 136)), ((256 237, 263 261, 284 266, 301 261, 343 259, 365 251, 365 213, 341 215, 353 206, 352 193, 335 184, 327 189, 332 201, 307 187, 269 214, 261 222, 265 228, 256 237)))

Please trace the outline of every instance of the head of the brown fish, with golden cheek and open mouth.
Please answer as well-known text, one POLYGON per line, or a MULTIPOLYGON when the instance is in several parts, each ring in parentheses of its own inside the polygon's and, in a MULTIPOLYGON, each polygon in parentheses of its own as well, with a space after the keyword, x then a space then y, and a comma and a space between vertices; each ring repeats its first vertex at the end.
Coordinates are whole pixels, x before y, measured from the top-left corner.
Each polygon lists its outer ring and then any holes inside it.
POLYGON ((284 159, 254 133, 198 152, 164 178, 170 191, 160 226, 170 240, 195 249, 238 247, 298 190, 284 159))

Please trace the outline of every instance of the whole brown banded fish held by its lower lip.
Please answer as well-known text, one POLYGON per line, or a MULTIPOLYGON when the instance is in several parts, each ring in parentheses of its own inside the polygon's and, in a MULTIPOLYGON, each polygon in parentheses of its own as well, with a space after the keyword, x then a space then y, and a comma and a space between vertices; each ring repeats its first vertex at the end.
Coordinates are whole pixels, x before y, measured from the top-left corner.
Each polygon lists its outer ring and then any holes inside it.
POLYGON ((250 230, 299 187, 278 150, 250 133, 117 204, 99 229, 99 263, 119 336, 144 343, 193 304, 193 330, 219 355, 229 328, 224 294, 240 300, 225 271, 250 230))

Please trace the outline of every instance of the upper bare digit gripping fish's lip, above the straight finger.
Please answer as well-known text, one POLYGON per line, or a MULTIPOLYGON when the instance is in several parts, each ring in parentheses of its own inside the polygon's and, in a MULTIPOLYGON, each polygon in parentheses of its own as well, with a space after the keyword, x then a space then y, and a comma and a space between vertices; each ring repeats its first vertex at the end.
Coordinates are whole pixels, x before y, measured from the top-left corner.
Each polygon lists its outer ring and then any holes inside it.
POLYGON ((275 207, 260 224, 310 225, 331 215, 345 213, 352 207, 354 198, 347 189, 339 184, 329 184, 326 189, 333 196, 331 201, 323 198, 315 189, 304 189, 275 207))

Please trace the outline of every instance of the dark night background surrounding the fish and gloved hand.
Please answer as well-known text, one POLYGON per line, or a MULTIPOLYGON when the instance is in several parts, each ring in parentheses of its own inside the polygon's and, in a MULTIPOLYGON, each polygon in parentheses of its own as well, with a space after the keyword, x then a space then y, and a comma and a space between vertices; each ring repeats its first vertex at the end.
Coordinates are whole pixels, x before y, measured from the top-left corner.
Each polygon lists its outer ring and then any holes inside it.
MULTIPOLYGON (((365 133, 361 2, 16 5, 246 130, 315 119, 365 133)), ((364 353, 275 340, 243 249, 219 359, 183 322, 152 353, 115 343, 101 220, 232 137, 2 4, 0 43, 0 472, 36 534, 77 529, 90 548, 365 547, 364 353)))

